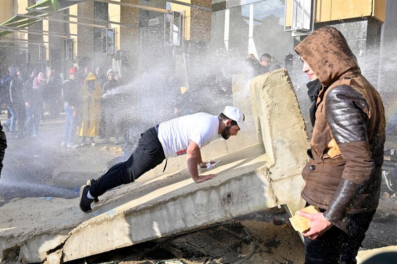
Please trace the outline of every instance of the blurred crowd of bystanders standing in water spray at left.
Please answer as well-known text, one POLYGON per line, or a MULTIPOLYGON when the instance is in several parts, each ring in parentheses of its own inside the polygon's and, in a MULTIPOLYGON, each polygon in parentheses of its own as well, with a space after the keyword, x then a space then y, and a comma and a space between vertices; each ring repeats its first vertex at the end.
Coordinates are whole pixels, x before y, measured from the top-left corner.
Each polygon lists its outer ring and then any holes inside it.
POLYGON ((41 121, 57 119, 65 111, 62 146, 95 145, 96 136, 104 138, 105 143, 110 143, 110 138, 114 137, 113 143, 119 144, 121 131, 114 111, 116 98, 103 98, 102 95, 120 83, 117 71, 110 68, 105 75, 99 66, 94 72, 88 66, 83 72, 72 67, 65 80, 54 69, 48 75, 34 69, 30 77, 24 79, 18 67, 9 66, 0 83, 1 110, 7 110, 8 114, 8 119, 2 123, 3 130, 17 137, 36 138, 41 121), (76 135, 80 143, 75 142, 76 135))

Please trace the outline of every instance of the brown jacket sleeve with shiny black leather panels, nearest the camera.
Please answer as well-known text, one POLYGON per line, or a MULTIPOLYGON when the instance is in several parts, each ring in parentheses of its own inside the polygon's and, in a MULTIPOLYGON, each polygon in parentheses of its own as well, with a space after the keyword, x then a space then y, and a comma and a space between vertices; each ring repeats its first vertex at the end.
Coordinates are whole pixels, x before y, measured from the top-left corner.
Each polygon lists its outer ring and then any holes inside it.
POLYGON ((326 119, 346 164, 324 216, 348 234, 351 232, 347 211, 375 168, 368 144, 368 117, 363 111, 366 106, 364 97, 348 85, 332 88, 326 98, 326 119))

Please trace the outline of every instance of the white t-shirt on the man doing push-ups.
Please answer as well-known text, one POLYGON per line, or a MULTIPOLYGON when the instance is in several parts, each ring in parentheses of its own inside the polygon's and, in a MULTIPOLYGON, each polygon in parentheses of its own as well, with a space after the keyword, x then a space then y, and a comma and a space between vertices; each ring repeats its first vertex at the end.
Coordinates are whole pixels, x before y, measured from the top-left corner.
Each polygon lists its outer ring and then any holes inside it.
POLYGON ((186 154, 190 140, 201 149, 217 138, 219 118, 197 113, 163 122, 158 127, 158 139, 164 149, 165 158, 186 154))

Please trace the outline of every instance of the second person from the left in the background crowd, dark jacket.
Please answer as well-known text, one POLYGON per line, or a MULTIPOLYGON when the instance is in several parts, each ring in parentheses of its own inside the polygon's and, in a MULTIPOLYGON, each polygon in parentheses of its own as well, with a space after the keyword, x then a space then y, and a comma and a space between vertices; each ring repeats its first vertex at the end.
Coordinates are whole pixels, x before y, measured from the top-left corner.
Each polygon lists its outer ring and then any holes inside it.
POLYGON ((15 69, 15 76, 11 79, 9 84, 9 95, 10 101, 13 105, 16 113, 16 125, 18 127, 17 135, 23 136, 25 132, 25 120, 26 120, 26 112, 25 112, 25 104, 23 100, 23 81, 20 77, 19 68, 15 69))

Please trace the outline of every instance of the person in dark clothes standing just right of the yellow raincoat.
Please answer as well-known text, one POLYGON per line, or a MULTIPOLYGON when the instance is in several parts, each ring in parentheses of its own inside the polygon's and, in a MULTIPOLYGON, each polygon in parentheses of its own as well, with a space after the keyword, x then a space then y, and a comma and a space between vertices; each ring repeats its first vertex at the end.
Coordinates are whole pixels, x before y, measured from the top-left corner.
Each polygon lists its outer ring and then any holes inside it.
MULTIPOLYGON (((115 72, 113 69, 108 70, 107 74, 108 80, 103 85, 103 93, 111 91, 112 89, 118 86, 117 81, 115 80, 115 72)), ((118 100, 120 96, 112 95, 105 96, 102 99, 102 107, 105 112, 105 143, 110 143, 110 136, 112 131, 114 131, 115 144, 119 144, 119 135, 120 135, 120 120, 117 112, 116 105, 118 104, 118 100)))

